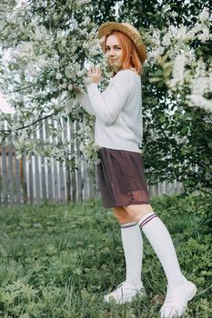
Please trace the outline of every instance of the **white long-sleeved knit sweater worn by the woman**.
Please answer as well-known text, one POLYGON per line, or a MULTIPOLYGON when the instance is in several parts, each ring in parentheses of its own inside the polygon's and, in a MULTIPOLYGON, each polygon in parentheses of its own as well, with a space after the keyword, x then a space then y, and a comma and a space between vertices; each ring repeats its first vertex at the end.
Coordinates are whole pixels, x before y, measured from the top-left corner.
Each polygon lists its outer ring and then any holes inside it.
POLYGON ((141 81, 133 70, 119 71, 101 93, 96 83, 77 99, 96 116, 95 140, 102 147, 140 153, 142 141, 141 81))

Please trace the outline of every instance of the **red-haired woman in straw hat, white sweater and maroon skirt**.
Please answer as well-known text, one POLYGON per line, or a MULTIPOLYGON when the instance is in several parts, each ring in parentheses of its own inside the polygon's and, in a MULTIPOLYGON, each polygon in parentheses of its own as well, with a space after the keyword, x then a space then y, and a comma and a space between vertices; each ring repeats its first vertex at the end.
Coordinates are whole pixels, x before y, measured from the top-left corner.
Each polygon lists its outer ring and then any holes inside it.
POLYGON ((100 93, 97 84, 101 80, 101 69, 90 68, 86 84, 88 95, 81 92, 77 98, 89 114, 96 116, 99 186, 103 204, 114 208, 126 258, 126 280, 108 293, 105 301, 131 302, 137 293, 144 293, 142 230, 167 276, 167 297, 160 315, 163 318, 182 316, 197 287, 181 273, 167 227, 149 204, 139 150, 142 139, 140 75, 146 47, 136 28, 127 23, 107 22, 99 27, 98 37, 103 39, 103 51, 114 76, 100 93))

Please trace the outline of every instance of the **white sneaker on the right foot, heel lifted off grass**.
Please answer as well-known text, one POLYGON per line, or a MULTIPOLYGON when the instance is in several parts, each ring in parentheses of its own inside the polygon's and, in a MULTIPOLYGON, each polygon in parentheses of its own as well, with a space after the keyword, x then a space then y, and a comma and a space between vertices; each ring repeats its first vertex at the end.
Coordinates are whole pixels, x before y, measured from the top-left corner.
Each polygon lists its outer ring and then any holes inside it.
POLYGON ((176 288, 167 286, 167 296, 165 303, 160 309, 161 318, 182 317, 186 312, 187 303, 197 293, 197 287, 194 283, 185 281, 176 288))

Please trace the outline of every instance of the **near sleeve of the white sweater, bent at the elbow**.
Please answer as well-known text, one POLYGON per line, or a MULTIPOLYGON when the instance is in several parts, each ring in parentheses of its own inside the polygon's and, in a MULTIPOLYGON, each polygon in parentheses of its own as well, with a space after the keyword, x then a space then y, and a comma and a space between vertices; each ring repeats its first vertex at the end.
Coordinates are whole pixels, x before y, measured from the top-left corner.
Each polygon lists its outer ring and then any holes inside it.
POLYGON ((100 93, 96 83, 86 84, 94 113, 104 124, 113 124, 132 90, 130 71, 119 71, 106 91, 100 93))

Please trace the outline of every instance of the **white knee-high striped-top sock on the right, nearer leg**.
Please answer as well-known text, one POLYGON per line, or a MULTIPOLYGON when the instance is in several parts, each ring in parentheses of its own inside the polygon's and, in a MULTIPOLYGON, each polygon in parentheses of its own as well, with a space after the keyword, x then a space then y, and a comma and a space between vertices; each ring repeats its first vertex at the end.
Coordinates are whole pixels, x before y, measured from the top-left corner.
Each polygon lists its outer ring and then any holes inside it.
POLYGON ((146 234, 167 276, 167 283, 177 287, 184 282, 177 261, 177 253, 167 227, 154 213, 146 214, 139 222, 140 229, 146 234))

